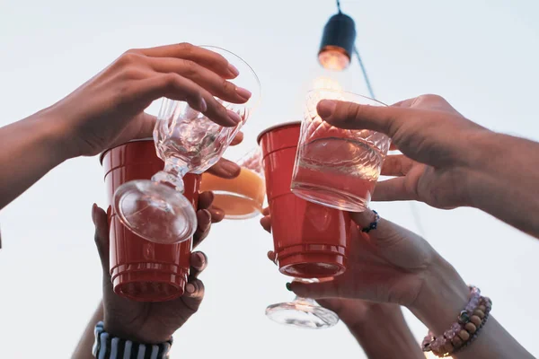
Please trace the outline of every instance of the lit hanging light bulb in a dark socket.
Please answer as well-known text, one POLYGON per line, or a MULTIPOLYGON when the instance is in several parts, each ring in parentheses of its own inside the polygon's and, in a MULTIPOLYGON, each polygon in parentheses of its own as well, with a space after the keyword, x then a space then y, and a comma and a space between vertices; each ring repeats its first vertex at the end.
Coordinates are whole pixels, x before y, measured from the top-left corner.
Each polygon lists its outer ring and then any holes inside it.
POLYGON ((322 42, 318 51, 320 65, 328 70, 344 70, 349 66, 355 40, 354 20, 340 12, 331 16, 323 28, 322 42))

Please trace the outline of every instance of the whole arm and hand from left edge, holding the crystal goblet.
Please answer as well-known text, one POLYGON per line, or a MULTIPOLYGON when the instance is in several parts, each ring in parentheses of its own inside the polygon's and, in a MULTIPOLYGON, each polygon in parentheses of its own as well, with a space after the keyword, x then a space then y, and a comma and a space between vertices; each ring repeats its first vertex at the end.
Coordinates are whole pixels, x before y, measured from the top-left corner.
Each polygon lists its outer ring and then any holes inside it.
POLYGON ((163 96, 236 126, 241 118, 214 96, 248 101, 251 92, 225 81, 237 75, 225 57, 190 44, 129 50, 63 100, 0 128, 0 209, 69 158, 152 136, 156 118, 144 109, 163 96))

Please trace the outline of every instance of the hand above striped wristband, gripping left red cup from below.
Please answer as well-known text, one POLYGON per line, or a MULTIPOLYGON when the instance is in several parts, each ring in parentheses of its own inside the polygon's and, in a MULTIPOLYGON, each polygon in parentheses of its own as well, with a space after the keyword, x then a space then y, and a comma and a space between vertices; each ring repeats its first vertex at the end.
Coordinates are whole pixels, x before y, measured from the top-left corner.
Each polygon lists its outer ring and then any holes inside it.
MULTIPOLYGON (((241 137, 234 142, 241 141, 241 137)), ((210 170, 216 176, 234 178, 240 168, 234 162, 221 159, 210 170)), ((223 220, 224 212, 211 206, 213 193, 199 196, 197 211, 198 228, 193 236, 193 248, 207 236, 211 223, 223 220)), ((180 328, 198 309, 204 296, 204 285, 198 279, 208 264, 202 252, 191 253, 190 277, 185 293, 170 302, 133 302, 119 297, 112 290, 109 271, 109 226, 102 208, 93 205, 92 218, 95 224, 95 242, 102 260, 103 308, 105 329, 116 337, 154 344, 162 343, 180 328)))

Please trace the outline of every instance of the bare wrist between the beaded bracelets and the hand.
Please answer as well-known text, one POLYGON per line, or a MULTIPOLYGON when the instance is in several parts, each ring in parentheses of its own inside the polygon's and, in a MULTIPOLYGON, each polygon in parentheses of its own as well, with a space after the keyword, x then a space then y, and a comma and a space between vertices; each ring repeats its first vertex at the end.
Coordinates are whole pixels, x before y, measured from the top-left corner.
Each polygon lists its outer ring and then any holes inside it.
POLYGON ((435 335, 451 327, 464 310, 470 290, 444 258, 434 259, 410 311, 435 335))

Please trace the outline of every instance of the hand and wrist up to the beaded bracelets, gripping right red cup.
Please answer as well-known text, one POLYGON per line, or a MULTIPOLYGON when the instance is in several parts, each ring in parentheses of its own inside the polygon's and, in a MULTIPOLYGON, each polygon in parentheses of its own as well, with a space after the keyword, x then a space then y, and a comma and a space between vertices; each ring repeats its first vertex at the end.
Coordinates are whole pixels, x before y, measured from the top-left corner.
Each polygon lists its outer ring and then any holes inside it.
MULTIPOLYGON (((264 215, 261 225, 270 232, 269 209, 264 210, 264 215)), ((429 302, 433 298, 432 293, 447 291, 458 296, 450 304, 438 304, 446 305, 450 323, 455 312, 464 308, 467 298, 468 290, 462 278, 427 241, 394 223, 380 218, 376 230, 368 234, 361 232, 361 228, 368 227, 374 217, 371 210, 351 214, 355 224, 351 231, 348 268, 344 274, 320 283, 292 282, 291 289, 301 297, 315 300, 362 299, 400 304, 412 311, 416 307, 421 307, 419 311, 422 311, 424 305, 430 309, 437 308, 436 304, 429 302), (432 289, 437 285, 444 288, 432 289)), ((268 257, 275 260, 272 251, 268 257)), ((446 298, 449 296, 447 294, 446 298)), ((441 312, 436 315, 440 316, 441 312)), ((422 314, 419 316, 424 317, 422 314)))

